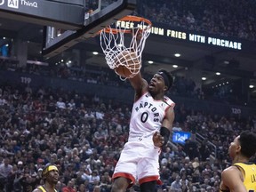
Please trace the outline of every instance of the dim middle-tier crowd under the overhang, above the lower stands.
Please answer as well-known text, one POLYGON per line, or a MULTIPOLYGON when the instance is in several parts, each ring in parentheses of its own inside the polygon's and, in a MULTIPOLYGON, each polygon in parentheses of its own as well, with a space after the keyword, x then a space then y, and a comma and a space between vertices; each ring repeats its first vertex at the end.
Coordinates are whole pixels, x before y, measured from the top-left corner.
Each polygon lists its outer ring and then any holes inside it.
MULTIPOLYGON (((1 62, 1 59, 0 59, 1 62)), ((50 76, 74 80, 79 82, 86 82, 90 84, 104 84, 108 86, 130 87, 127 81, 120 81, 120 78, 115 72, 109 68, 100 68, 92 65, 72 66, 68 67, 64 63, 54 66, 40 66, 35 64, 27 64, 24 67, 10 66, 8 61, 2 61, 1 70, 12 70, 25 74, 50 76)), ((144 73, 144 77, 149 80, 151 74, 144 73)), ((238 98, 234 90, 240 90, 234 84, 226 84, 212 89, 203 89, 191 78, 187 76, 173 76, 174 83, 172 86, 172 95, 178 95, 187 98, 198 100, 213 100, 216 102, 230 103, 236 105, 244 105, 244 100, 238 98)), ((171 93, 170 92, 170 93, 171 93)))

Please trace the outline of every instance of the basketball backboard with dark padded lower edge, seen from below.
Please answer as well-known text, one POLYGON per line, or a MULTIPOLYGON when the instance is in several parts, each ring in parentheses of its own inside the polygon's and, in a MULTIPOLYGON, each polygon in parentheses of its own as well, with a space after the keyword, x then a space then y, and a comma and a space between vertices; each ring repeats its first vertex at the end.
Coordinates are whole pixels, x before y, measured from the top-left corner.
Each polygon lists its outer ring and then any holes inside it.
MULTIPOLYGON (((85 1, 90 3, 91 1, 85 1)), ((98 0, 98 4, 84 5, 84 23, 78 29, 63 29, 54 26, 44 27, 44 47, 42 54, 45 59, 50 59, 68 48, 85 41, 102 28, 116 22, 126 15, 132 14, 136 8, 136 0, 98 0), (111 4, 109 4, 109 2, 111 4)))

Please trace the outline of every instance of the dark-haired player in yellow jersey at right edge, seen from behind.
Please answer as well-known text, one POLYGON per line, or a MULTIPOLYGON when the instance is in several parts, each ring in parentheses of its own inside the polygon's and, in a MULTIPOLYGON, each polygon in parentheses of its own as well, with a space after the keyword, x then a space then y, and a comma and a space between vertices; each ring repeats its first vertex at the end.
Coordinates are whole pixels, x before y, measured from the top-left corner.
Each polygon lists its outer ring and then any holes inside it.
POLYGON ((256 134, 242 132, 230 143, 228 154, 232 165, 221 173, 220 191, 256 191, 256 164, 249 159, 256 153, 256 134))

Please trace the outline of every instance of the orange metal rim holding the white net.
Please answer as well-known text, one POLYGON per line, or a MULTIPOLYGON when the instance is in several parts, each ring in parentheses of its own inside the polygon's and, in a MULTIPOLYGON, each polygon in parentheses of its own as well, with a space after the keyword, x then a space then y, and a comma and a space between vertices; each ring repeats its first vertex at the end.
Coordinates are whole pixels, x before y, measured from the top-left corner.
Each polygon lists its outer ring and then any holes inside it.
MULTIPOLYGON (((148 28, 151 28, 152 23, 150 20, 147 20, 145 18, 141 18, 138 16, 132 16, 132 15, 127 15, 124 18, 120 19, 121 21, 135 21, 135 22, 146 22, 148 23, 148 28)), ((100 34, 100 32, 104 30, 106 33, 112 33, 112 34, 117 34, 117 33, 132 33, 132 29, 117 29, 117 28, 111 28, 110 26, 108 26, 107 28, 101 29, 97 34, 100 34)), ((144 29, 140 29, 140 31, 142 32, 144 29)))

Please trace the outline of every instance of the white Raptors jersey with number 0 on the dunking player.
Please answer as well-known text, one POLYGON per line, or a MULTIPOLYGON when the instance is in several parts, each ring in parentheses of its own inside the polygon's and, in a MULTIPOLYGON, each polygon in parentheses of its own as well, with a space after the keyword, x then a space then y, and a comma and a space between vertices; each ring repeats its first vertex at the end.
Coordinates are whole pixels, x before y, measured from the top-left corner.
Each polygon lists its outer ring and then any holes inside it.
POLYGON ((158 131, 164 120, 165 112, 174 105, 175 103, 168 97, 164 96, 164 100, 154 100, 149 92, 143 94, 133 103, 130 137, 145 136, 158 131))

